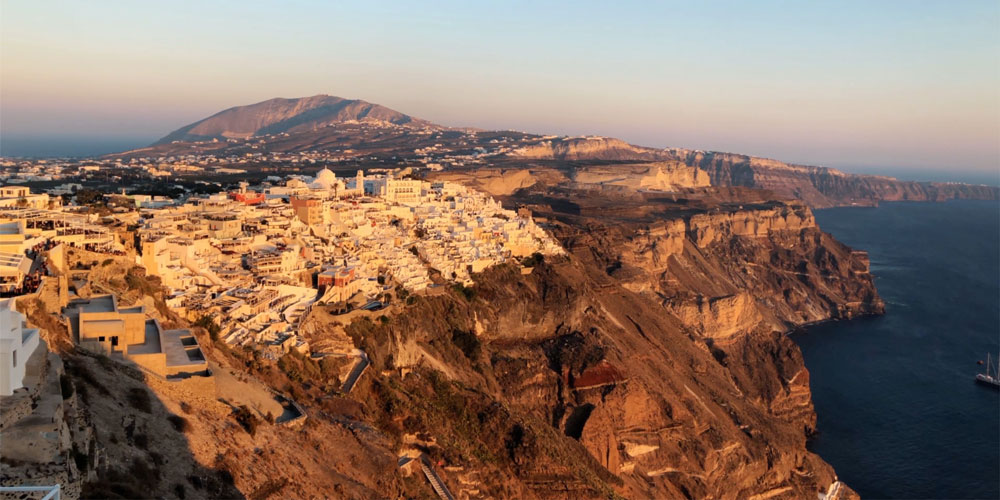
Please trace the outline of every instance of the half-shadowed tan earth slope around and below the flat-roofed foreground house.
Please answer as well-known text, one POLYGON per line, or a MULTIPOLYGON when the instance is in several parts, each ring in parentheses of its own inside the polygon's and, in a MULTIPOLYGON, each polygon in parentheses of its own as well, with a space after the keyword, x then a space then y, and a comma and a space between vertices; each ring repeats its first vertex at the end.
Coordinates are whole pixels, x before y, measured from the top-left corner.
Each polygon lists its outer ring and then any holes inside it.
MULTIPOLYGON (((292 380, 278 364, 231 350, 200 328, 195 333, 215 372, 211 378, 168 382, 74 349, 58 319, 60 282, 83 296, 115 293, 123 304, 146 304, 167 325, 190 325, 165 307, 158 281, 136 273, 133 259, 75 250, 68 264, 91 270, 77 273, 76 285, 47 278, 42 293, 20 306, 66 367, 64 377, 49 377, 56 399, 65 400, 60 414, 68 432, 58 436, 65 434, 65 450, 39 464, 24 457, 5 461, 5 485, 61 482, 66 498, 264 499, 401 497, 413 482, 398 473, 396 444, 359 418, 357 403, 324 384, 326 371, 308 384, 292 380), (306 417, 279 422, 254 407, 241 414, 247 393, 262 386, 268 395, 296 393, 306 417)), ((285 361, 282 366, 293 362, 285 361)), ((308 363, 295 362, 299 368, 308 363)), ((18 437, 3 429, 5 457, 18 446, 40 448, 37 433, 12 443, 18 437)))

